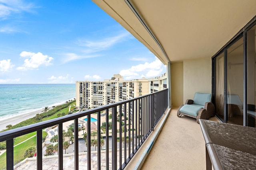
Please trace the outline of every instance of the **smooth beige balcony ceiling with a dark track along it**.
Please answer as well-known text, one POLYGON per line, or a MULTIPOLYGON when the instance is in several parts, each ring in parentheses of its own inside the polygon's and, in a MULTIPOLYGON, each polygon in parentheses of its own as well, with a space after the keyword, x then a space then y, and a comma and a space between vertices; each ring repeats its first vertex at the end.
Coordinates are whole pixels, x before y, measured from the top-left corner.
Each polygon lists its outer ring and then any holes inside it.
POLYGON ((124 0, 93 0, 164 64, 212 57, 256 16, 256 0, 130 0, 168 59, 124 0))

